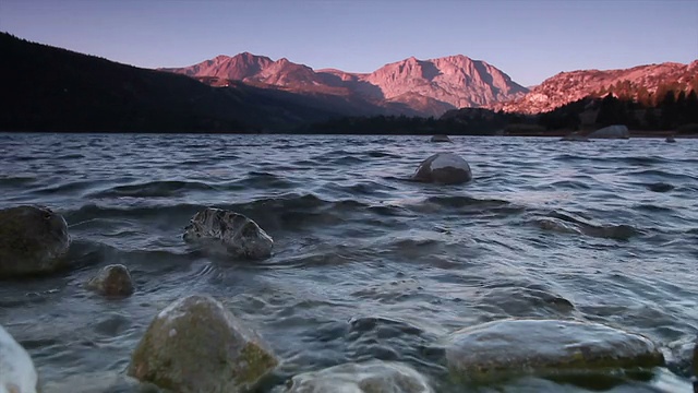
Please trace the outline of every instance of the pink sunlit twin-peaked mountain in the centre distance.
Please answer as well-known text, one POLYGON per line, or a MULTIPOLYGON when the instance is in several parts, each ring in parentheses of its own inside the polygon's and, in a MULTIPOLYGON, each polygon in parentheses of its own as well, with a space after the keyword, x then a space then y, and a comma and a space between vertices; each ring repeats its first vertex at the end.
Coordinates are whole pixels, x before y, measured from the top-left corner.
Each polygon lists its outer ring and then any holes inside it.
POLYGON ((486 106, 528 92, 497 68, 460 55, 430 60, 411 57, 372 73, 314 71, 286 58, 272 61, 248 52, 160 70, 280 87, 298 94, 342 96, 400 115, 441 116, 449 109, 486 106))

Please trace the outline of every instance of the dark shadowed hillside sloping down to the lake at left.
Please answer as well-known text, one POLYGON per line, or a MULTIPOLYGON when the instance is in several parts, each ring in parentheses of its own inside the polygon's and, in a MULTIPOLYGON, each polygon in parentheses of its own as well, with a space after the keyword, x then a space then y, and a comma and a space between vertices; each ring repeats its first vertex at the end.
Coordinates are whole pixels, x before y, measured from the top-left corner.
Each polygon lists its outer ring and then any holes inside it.
MULTIPOLYGON (((0 131, 284 131, 377 110, 333 102, 334 95, 303 96, 239 82, 217 88, 5 33, 0 33, 0 85, 8 98, 0 106, 0 131)), ((242 60, 227 62, 228 75, 256 75, 273 63, 251 56, 242 60)), ((196 72, 216 67, 214 60, 196 72)))

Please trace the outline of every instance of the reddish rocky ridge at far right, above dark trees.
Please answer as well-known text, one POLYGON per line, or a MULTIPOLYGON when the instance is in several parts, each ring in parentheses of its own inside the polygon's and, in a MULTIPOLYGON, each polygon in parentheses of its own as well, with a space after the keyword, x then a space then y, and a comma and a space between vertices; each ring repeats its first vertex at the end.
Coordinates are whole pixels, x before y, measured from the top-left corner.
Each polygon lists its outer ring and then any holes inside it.
POLYGON ((535 86, 524 97, 491 105, 507 112, 547 112, 565 104, 613 93, 640 102, 662 99, 667 90, 698 91, 698 60, 690 64, 665 62, 619 70, 561 72, 535 86))

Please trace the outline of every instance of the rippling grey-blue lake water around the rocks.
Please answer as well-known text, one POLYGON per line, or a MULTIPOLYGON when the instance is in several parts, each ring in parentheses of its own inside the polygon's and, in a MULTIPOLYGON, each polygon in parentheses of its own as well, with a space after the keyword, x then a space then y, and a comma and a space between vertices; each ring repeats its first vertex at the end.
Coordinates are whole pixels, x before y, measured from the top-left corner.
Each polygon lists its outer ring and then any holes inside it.
MULTIPOLYGON (((0 324, 45 382, 119 373, 159 309, 206 293, 285 359, 278 381, 378 358, 440 392, 461 391, 444 377, 440 337, 476 323, 575 318, 666 348, 696 336, 698 140, 453 140, 0 134, 0 207, 63 214, 75 263, 1 283, 0 324), (466 158, 474 180, 405 180, 441 151, 466 158), (256 221, 273 258, 189 250, 183 227, 205 206, 256 221), (110 263, 131 269, 135 295, 84 288, 110 263)), ((682 356, 614 391, 690 391, 682 356)), ((583 391, 532 378, 478 389, 583 391)))

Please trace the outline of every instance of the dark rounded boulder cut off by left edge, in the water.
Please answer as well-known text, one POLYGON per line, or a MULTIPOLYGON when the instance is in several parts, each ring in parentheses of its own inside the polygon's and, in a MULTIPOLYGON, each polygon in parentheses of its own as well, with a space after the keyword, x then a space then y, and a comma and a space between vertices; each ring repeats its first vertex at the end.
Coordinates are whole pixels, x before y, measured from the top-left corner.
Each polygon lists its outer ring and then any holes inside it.
POLYGON ((69 247, 60 214, 38 206, 0 210, 0 278, 55 272, 69 247))

